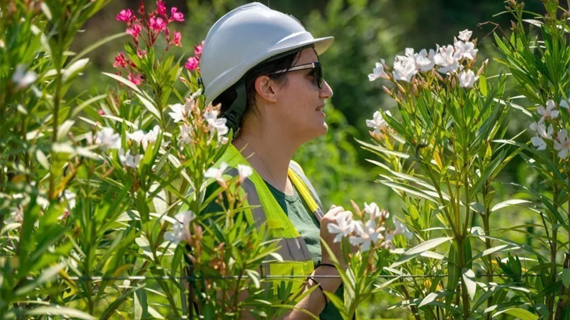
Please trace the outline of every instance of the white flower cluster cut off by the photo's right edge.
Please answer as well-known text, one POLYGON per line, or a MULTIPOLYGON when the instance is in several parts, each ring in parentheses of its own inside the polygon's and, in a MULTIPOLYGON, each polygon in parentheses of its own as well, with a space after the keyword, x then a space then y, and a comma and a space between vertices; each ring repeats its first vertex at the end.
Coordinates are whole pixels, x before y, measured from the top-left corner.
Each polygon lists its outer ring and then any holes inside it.
MULTIPOLYGON (((558 104, 560 108, 565 108, 570 112, 570 101, 562 100, 558 104)), ((556 134, 554 132, 554 124, 560 114, 560 110, 556 109, 556 102, 553 100, 546 101, 545 106, 538 106, 536 112, 540 114, 540 120, 532 123, 530 128, 536 132, 536 136, 531 138, 531 143, 538 150, 545 150, 547 142, 545 140, 553 140, 553 147, 558 151, 558 157, 566 159, 570 150, 570 139, 568 139, 568 131, 560 129, 556 134), (553 137, 556 138, 553 138, 553 137)))

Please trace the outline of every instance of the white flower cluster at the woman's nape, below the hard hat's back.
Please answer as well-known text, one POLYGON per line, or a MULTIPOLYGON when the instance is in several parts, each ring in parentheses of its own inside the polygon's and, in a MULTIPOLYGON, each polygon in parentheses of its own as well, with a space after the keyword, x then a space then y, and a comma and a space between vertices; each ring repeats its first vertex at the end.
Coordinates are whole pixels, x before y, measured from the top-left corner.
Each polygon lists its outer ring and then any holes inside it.
POLYGON ((184 104, 173 104, 169 108, 169 116, 174 122, 182 122, 178 141, 182 143, 194 143, 197 141, 198 132, 209 134, 209 141, 214 137, 218 143, 225 144, 228 139, 225 134, 229 129, 226 126, 226 118, 219 117, 219 107, 209 105, 204 110, 198 108, 196 100, 200 91, 186 98, 184 104))

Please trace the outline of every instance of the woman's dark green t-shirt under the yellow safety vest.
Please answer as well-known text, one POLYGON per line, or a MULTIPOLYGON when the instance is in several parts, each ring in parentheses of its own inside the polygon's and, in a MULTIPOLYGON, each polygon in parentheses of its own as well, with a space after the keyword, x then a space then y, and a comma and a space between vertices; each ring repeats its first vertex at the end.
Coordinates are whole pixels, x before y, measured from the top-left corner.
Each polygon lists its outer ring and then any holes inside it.
MULTIPOLYGON (((311 252, 311 256, 316 267, 321 261, 319 221, 308 208, 303 198, 299 196, 299 192, 296 188, 294 188, 293 195, 286 195, 284 192, 281 192, 274 186, 271 186, 271 184, 267 182, 265 184, 267 184, 271 194, 275 197, 281 208, 283 208, 283 211, 285 211, 285 214, 289 217, 291 223, 299 232, 299 235, 305 239, 305 243, 307 243, 307 248, 309 249, 309 252, 311 252)), ((343 298, 343 287, 340 286, 340 288, 336 290, 335 294, 340 298, 343 298)), ((332 302, 328 303, 319 318, 323 320, 342 319, 339 310, 332 302)))

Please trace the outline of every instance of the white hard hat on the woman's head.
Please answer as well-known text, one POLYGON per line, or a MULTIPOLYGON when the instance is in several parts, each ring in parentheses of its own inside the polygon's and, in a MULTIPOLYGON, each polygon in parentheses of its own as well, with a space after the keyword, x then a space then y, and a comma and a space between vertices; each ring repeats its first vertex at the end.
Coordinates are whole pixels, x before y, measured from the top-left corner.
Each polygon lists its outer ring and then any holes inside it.
POLYGON ((310 44, 320 55, 334 39, 315 39, 299 20, 259 2, 231 10, 210 28, 204 40, 200 71, 206 104, 260 62, 310 44))

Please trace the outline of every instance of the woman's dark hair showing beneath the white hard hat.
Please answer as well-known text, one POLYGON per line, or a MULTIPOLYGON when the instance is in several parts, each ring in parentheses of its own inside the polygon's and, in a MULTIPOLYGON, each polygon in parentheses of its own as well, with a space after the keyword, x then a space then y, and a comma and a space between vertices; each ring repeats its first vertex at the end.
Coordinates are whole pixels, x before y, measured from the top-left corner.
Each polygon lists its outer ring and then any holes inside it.
MULTIPOLYGON (((312 47, 312 46, 308 46, 312 47)), ((271 74, 280 70, 288 70, 290 69, 299 59, 300 52, 303 51, 307 47, 300 47, 296 48, 295 51, 285 52, 284 54, 274 56, 267 60, 260 62, 259 64, 255 65, 255 67, 251 68, 249 71, 246 72, 245 75, 234 85, 230 88, 226 89, 226 91, 222 92, 221 95, 216 97, 214 101, 212 101, 213 105, 222 104, 221 106, 221 115, 230 108, 231 104, 237 99, 238 92, 237 87, 242 83, 245 83, 246 89, 246 109, 243 112, 245 115, 247 112, 250 111, 251 107, 255 105, 255 80, 259 76, 268 76, 271 80, 275 81, 276 83, 284 84, 287 81, 287 73, 277 73, 271 74)), ((243 120, 243 116, 242 119, 243 120)), ((241 120, 239 126, 241 127, 241 120)))

